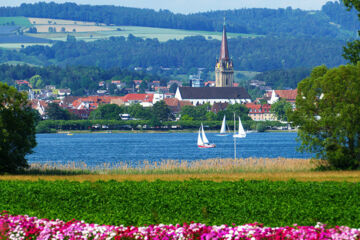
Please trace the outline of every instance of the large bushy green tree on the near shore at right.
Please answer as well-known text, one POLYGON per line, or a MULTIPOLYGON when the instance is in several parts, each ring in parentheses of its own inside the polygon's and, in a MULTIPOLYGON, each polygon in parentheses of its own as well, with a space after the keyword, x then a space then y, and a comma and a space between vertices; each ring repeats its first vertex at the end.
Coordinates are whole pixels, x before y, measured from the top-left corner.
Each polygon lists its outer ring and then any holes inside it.
POLYGON ((300 150, 335 169, 360 167, 360 63, 314 68, 298 85, 289 120, 299 126, 300 150))

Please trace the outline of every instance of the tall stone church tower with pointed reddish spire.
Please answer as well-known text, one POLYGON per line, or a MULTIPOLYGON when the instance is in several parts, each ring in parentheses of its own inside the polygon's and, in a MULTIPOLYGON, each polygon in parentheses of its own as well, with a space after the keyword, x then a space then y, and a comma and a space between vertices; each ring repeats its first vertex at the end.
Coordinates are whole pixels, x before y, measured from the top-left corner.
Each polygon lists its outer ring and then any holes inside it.
POLYGON ((232 60, 229 58, 225 21, 221 41, 220 58, 215 66, 215 80, 216 87, 232 87, 234 82, 234 68, 232 60))

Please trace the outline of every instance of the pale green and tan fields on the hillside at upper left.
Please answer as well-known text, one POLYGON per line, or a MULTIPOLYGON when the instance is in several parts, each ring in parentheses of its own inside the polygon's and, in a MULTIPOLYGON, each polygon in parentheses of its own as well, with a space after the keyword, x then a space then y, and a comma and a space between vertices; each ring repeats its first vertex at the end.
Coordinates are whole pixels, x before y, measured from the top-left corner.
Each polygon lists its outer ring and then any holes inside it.
MULTIPOLYGON (((78 40, 95 41, 98 39, 106 39, 109 37, 128 37, 132 34, 141 38, 156 38, 159 41, 168 41, 170 39, 183 39, 189 36, 204 36, 207 39, 221 40, 221 32, 207 32, 207 31, 191 31, 179 29, 165 29, 153 27, 138 27, 138 26, 106 26, 95 22, 81 22, 63 19, 49 19, 49 18, 24 18, 24 17, 9 17, 0 18, 0 25, 5 23, 15 24, 20 27, 35 27, 37 33, 26 33, 22 38, 2 37, 0 39, 0 47, 3 48, 21 48, 18 45, 6 45, 16 43, 27 43, 26 46, 37 45, 38 43, 54 41, 66 41, 70 34, 75 36, 78 40), (49 31, 51 29, 51 31, 49 31), (32 39, 31 41, 29 39, 32 39)), ((27 30, 25 30, 27 31, 27 30)), ((228 33, 229 38, 244 37, 253 38, 260 35, 254 34, 240 34, 228 33)))

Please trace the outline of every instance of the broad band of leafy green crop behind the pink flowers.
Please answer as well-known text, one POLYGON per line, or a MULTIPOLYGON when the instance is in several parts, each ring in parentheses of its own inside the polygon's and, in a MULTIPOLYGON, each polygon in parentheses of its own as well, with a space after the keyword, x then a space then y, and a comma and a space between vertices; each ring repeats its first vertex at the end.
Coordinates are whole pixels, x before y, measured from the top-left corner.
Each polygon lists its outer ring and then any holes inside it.
POLYGON ((322 222, 358 228, 359 194, 360 184, 349 182, 0 181, 0 209, 125 226, 322 222))

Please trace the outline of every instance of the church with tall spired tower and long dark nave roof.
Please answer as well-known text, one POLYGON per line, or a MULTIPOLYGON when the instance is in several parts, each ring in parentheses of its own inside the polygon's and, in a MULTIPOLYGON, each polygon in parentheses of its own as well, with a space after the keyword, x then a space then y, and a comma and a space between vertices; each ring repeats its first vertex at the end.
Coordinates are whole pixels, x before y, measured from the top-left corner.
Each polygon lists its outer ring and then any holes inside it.
POLYGON ((178 87, 175 98, 190 101, 193 105, 205 103, 249 103, 250 95, 243 87, 233 87, 234 68, 229 57, 226 27, 224 23, 220 57, 215 65, 215 87, 178 87))

